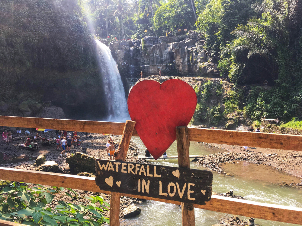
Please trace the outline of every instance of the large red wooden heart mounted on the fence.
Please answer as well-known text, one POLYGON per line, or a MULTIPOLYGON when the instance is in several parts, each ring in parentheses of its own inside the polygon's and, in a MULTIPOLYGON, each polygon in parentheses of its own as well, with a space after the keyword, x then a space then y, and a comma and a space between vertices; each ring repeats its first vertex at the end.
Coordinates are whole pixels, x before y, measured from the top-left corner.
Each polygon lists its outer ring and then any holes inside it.
POLYGON ((189 124, 196 104, 194 89, 179 79, 162 84, 143 80, 132 87, 128 96, 129 114, 154 159, 176 140, 175 127, 189 124))

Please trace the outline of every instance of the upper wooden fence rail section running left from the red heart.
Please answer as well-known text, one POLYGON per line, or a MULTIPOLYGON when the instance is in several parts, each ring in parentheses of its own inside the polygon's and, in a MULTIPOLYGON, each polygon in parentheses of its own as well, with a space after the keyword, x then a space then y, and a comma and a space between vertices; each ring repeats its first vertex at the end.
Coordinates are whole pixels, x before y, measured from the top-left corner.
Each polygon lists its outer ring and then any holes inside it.
MULTIPOLYGON (((68 130, 87 133, 106 133, 122 135, 125 123, 0 116, 0 126, 21 128, 47 128, 53 130, 68 130)), ((135 129, 133 131, 133 136, 138 136, 135 129)))

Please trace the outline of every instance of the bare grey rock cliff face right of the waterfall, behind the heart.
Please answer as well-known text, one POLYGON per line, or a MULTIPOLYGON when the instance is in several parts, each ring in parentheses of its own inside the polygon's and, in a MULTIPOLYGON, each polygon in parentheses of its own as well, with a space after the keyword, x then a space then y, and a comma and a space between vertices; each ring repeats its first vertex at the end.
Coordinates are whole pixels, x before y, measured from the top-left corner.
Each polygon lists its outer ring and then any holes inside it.
POLYGON ((113 58, 117 61, 120 74, 127 78, 158 75, 218 75, 215 57, 209 56, 203 48, 204 41, 195 41, 187 36, 146 36, 142 40, 111 42, 113 58))

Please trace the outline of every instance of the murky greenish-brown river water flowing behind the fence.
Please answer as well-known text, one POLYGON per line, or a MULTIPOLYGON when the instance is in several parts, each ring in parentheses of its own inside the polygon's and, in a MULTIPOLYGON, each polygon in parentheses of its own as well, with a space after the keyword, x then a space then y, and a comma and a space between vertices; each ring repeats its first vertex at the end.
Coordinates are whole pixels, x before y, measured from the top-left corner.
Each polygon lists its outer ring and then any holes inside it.
MULTIPOLYGON (((132 137, 132 141, 139 146, 141 153, 145 155, 145 146, 139 137, 132 137)), ((212 149, 200 143, 190 142, 190 155, 208 155, 221 150, 212 149)), ((167 150, 169 155, 177 155, 176 141, 167 150)), ((150 163, 157 165, 166 165, 178 167, 177 159, 150 160, 150 163)), ((191 168, 205 169, 191 162, 191 168)), ((284 206, 302 207, 302 190, 293 187, 284 187, 273 183, 283 180, 298 181, 299 178, 283 174, 271 167, 251 164, 245 165, 245 162, 235 164, 226 164, 223 166, 224 171, 229 171, 234 176, 224 176, 213 173, 213 192, 224 193, 232 189, 234 195, 243 196, 247 200, 256 202, 279 204, 284 206), (256 168, 257 167, 257 168, 256 168), (244 169, 244 170, 243 170, 244 169), (258 175, 258 176, 257 176, 258 175), (265 175, 265 177, 263 177, 265 175), (270 179, 267 179, 270 178, 270 179), (280 178, 280 179, 279 179, 280 178), (279 180, 278 180, 279 179, 279 180)), ((290 183, 288 183, 290 184, 290 183)), ((135 218, 124 220, 121 225, 152 225, 152 226, 181 226, 181 207, 164 202, 146 201, 138 205, 141 208, 141 214, 135 218)), ((219 212, 213 212, 195 208, 195 224, 197 226, 212 226, 219 223, 221 217, 232 216, 219 212)), ((247 220, 248 217, 240 217, 247 220)), ((297 224, 281 223, 276 221, 266 221, 256 219, 255 224, 271 226, 294 226, 297 224)))

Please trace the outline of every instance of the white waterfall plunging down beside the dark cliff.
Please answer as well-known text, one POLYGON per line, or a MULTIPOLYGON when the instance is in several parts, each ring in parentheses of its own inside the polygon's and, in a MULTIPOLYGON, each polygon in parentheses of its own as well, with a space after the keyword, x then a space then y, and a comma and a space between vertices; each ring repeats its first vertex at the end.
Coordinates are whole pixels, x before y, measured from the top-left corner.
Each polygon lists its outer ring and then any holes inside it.
POLYGON ((110 49, 95 39, 98 66, 101 72, 103 88, 107 102, 108 121, 126 121, 130 118, 125 97, 125 90, 117 69, 117 64, 112 58, 110 49))

